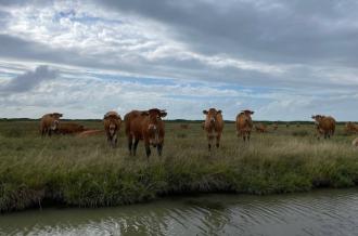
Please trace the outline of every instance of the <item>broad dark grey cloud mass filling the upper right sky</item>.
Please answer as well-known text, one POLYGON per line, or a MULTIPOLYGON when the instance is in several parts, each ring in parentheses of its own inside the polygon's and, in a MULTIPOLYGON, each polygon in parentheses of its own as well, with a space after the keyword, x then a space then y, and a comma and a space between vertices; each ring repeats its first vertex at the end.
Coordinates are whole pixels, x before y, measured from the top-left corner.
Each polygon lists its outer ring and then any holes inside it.
POLYGON ((358 63, 357 27, 344 24, 357 21, 358 3, 351 0, 101 2, 167 24, 178 39, 207 54, 271 63, 358 63))

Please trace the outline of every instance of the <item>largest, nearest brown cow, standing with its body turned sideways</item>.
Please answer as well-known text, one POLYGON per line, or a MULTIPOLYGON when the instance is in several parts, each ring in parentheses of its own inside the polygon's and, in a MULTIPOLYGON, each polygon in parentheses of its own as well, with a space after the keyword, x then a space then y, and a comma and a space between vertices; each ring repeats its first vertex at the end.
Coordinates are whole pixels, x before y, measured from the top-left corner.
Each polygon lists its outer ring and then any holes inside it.
POLYGON ((158 156, 162 156, 165 135, 162 118, 166 115, 165 110, 157 108, 132 110, 126 114, 126 135, 130 155, 136 156, 138 143, 143 140, 148 159, 151 156, 151 145, 156 147, 158 156))

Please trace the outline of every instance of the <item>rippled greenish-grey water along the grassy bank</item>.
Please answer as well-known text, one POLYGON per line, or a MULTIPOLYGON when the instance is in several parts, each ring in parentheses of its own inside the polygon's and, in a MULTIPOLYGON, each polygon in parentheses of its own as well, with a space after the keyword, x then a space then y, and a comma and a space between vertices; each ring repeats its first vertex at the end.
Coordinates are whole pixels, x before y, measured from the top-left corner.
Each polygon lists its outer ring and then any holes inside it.
POLYGON ((0 235, 358 235, 358 189, 200 195, 0 215, 0 235))

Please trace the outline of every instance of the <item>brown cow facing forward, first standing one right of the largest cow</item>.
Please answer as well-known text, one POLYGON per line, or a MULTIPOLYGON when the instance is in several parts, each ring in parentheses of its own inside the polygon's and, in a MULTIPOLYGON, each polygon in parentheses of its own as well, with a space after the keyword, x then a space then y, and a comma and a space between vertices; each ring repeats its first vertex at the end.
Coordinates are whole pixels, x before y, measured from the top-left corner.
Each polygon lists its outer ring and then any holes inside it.
POLYGON ((220 137, 223 129, 221 110, 209 108, 208 110, 203 110, 203 114, 206 116, 204 130, 206 131, 208 150, 212 149, 214 137, 216 137, 216 147, 218 148, 220 146, 220 137))

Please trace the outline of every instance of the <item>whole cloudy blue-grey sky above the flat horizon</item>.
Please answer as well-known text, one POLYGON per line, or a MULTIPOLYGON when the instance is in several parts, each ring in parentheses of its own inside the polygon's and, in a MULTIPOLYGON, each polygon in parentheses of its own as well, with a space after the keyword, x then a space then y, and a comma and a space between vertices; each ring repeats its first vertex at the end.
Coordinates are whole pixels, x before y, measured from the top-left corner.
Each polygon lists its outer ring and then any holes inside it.
POLYGON ((0 117, 358 120, 355 0, 0 0, 0 117))

